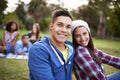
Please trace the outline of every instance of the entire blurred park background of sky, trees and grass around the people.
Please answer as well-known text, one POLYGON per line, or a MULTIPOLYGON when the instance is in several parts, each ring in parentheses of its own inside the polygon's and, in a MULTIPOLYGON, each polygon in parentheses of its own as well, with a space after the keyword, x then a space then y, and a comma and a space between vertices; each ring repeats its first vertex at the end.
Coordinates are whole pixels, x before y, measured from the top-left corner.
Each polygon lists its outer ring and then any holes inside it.
MULTIPOLYGON (((74 20, 87 21, 95 46, 120 57, 120 0, 0 0, 0 39, 8 20, 18 22, 19 39, 31 30, 33 23, 39 23, 42 37, 48 36, 51 12, 58 8, 69 10, 74 20)), ((29 80, 27 65, 28 60, 0 58, 0 80, 29 80)), ((104 67, 106 75, 120 72, 108 65, 104 67)))

